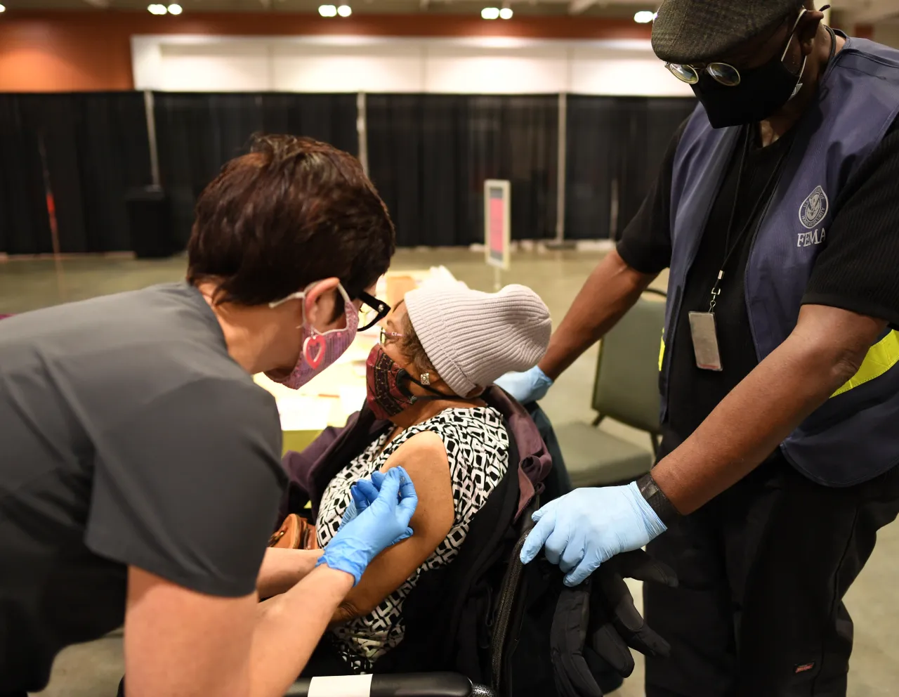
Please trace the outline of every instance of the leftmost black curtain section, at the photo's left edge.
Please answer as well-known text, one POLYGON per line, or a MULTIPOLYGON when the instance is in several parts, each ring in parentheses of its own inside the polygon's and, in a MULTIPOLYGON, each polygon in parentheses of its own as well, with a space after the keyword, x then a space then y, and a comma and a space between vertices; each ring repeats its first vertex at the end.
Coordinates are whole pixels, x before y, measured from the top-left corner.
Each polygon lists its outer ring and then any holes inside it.
POLYGON ((53 251, 41 142, 60 250, 130 249, 125 198, 151 180, 143 94, 0 94, 0 252, 53 251))

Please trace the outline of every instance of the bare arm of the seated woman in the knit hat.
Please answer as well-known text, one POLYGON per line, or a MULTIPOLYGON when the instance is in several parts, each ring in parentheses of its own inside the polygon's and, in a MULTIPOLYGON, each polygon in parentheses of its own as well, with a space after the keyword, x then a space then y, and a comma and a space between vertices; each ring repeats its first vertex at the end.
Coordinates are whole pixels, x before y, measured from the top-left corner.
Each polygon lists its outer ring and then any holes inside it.
POLYGON ((414 535, 376 557, 347 595, 336 621, 368 614, 430 557, 452 529, 456 517, 447 451, 436 433, 424 431, 396 449, 382 471, 403 467, 415 485, 418 506, 409 523, 414 535))

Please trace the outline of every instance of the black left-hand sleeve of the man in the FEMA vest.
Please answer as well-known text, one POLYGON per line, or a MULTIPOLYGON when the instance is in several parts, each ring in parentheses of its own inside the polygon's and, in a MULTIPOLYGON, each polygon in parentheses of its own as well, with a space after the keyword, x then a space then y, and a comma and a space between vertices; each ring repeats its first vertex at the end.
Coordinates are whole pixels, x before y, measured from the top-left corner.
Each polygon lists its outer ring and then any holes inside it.
POLYGON ((689 118, 675 131, 652 188, 619 239, 619 255, 640 273, 660 273, 671 264, 672 171, 688 121, 689 118))

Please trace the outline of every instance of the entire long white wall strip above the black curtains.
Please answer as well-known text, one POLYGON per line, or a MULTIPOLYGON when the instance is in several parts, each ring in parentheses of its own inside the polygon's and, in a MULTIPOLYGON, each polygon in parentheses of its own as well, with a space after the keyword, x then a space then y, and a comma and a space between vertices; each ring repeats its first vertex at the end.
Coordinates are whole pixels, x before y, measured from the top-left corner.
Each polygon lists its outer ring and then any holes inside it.
POLYGON ((138 89, 692 94, 648 41, 144 36, 131 43, 138 89))

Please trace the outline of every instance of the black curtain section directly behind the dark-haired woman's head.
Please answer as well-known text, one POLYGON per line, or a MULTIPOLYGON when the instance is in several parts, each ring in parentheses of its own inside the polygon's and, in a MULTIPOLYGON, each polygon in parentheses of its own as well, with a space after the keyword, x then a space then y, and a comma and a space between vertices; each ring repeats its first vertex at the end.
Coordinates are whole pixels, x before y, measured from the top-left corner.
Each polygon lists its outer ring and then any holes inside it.
POLYGON ((359 153, 356 94, 155 93, 154 103, 160 176, 179 246, 190 237, 197 196, 246 152, 254 133, 309 136, 359 153))

